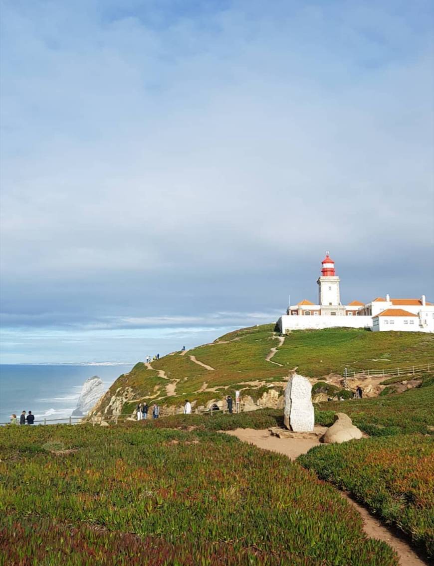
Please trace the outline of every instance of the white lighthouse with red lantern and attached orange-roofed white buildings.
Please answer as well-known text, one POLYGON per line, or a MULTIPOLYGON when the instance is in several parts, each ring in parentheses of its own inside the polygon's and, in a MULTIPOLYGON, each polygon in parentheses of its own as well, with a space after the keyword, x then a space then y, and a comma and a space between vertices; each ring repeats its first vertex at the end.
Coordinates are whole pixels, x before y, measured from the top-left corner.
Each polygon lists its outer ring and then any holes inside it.
POLYGON ((278 320, 280 332, 332 327, 434 332, 434 305, 426 301, 425 295, 420 299, 391 299, 386 295, 386 298, 377 297, 366 304, 352 301, 342 305, 340 281, 334 261, 327 252, 317 280, 318 304, 303 299, 297 305, 288 306, 286 315, 278 320))

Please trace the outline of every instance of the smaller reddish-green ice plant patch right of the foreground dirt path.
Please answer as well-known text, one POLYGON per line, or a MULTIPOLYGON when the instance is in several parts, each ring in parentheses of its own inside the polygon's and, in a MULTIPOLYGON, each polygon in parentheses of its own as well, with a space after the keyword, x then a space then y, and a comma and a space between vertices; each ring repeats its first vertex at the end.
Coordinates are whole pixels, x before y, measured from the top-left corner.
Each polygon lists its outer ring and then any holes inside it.
POLYGON ((319 446, 298 458, 349 490, 434 558, 434 439, 420 434, 319 446))

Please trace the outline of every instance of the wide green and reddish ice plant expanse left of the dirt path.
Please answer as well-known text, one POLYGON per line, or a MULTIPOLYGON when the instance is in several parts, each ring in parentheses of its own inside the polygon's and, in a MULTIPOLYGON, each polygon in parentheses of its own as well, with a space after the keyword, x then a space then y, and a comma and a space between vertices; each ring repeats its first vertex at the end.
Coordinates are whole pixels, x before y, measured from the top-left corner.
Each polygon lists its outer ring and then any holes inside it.
POLYGON ((8 426, 0 450, 4 564, 398 564, 332 486, 223 434, 8 426))

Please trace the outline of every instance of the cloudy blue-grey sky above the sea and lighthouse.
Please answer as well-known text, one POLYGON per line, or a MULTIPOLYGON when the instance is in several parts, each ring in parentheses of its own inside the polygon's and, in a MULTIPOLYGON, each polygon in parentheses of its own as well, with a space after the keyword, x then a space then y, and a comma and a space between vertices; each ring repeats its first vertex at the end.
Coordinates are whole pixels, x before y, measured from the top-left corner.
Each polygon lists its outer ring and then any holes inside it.
POLYGON ((433 6, 2 0, 1 361, 434 301, 433 6))

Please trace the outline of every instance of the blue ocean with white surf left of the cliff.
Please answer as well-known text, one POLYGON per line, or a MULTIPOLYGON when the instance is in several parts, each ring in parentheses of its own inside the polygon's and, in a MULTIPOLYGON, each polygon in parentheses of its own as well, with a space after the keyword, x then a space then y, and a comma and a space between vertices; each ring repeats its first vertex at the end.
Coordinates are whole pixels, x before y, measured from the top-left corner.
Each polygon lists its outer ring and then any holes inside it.
POLYGON ((93 375, 108 389, 134 364, 0 365, 0 423, 31 410, 35 420, 63 419, 71 415, 82 385, 93 375))

